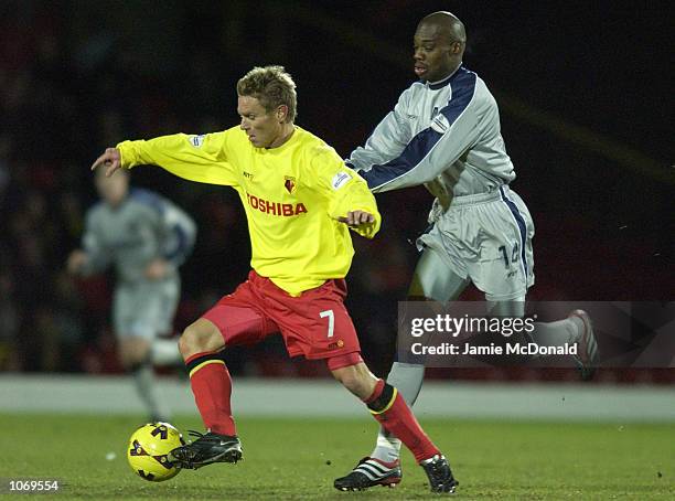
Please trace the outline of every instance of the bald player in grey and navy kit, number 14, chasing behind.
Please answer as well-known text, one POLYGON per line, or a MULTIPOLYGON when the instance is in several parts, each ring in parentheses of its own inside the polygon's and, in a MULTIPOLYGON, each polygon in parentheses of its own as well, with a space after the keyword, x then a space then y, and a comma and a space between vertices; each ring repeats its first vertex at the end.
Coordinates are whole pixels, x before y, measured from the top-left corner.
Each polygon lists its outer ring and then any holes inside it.
MULTIPOLYGON (((515 179, 501 136, 496 102, 485 83, 462 65, 464 25, 450 12, 424 18, 415 33, 419 81, 375 128, 347 164, 373 192, 424 184, 436 196, 431 230, 418 239, 409 300, 456 300, 469 283, 485 294, 491 316, 523 317, 534 284, 534 224, 523 200, 508 186, 515 179)), ((576 360, 590 373, 597 345, 589 316, 576 310, 553 323, 536 323, 540 345, 579 343, 576 360)), ((395 362, 387 382, 413 405, 425 366, 395 362)), ((381 429, 377 445, 339 489, 400 482, 400 441, 381 429)))

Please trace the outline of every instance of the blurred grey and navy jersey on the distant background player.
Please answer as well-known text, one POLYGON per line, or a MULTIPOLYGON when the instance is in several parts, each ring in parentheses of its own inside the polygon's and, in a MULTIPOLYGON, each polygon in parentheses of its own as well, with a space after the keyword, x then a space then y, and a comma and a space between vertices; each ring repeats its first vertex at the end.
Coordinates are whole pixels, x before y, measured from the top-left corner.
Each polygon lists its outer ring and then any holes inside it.
POLYGON ((87 212, 84 249, 85 274, 114 264, 124 283, 142 281, 151 260, 163 257, 171 265, 168 279, 194 246, 194 221, 169 200, 148 190, 132 189, 120 205, 99 202, 87 212))

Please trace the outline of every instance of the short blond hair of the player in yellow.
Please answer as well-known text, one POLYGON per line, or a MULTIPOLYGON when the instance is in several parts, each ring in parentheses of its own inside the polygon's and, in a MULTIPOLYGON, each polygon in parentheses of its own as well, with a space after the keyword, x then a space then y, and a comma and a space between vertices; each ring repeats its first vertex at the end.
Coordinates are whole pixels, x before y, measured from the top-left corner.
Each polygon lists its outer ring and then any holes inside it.
POLYGON ((296 119, 298 107, 296 83, 283 66, 254 67, 237 82, 237 94, 255 97, 267 113, 286 105, 288 113, 285 121, 292 124, 296 119))

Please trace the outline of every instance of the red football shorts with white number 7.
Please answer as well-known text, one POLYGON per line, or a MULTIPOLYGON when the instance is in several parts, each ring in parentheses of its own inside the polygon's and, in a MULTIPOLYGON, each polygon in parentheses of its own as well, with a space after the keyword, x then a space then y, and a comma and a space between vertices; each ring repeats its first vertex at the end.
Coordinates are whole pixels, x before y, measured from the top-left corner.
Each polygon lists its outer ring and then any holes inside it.
POLYGON ((219 329, 226 347, 255 344, 280 332, 290 356, 329 359, 329 369, 335 370, 362 361, 345 296, 343 279, 328 280, 292 297, 251 270, 248 280, 203 318, 219 329))

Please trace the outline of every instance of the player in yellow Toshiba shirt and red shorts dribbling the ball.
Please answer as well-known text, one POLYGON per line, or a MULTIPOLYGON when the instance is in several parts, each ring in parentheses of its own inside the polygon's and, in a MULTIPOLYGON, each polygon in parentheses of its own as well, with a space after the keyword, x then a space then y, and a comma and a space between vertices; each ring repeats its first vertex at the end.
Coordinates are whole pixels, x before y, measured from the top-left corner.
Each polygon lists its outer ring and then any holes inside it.
POLYGON ((291 356, 325 360, 333 376, 399 437, 432 491, 452 492, 447 459, 397 390, 361 358, 344 307, 354 255, 350 230, 372 238, 381 216, 365 181, 318 137, 294 125, 296 85, 281 66, 256 67, 237 83, 239 126, 124 141, 92 166, 154 164, 192 181, 234 188, 251 243, 248 280, 185 329, 179 348, 207 433, 172 451, 182 468, 236 462, 242 445, 232 417, 232 380, 221 351, 280 332, 291 356))

